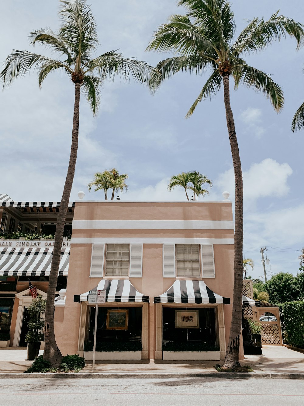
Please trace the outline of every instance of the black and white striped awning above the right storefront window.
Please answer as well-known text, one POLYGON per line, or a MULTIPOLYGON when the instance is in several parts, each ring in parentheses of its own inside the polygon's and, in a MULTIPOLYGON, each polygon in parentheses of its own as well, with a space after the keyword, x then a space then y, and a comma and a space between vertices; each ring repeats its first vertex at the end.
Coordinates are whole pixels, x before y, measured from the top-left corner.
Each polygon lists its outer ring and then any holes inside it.
POLYGON ((154 303, 230 304, 230 299, 212 292, 203 281, 175 281, 166 292, 154 297, 154 303))

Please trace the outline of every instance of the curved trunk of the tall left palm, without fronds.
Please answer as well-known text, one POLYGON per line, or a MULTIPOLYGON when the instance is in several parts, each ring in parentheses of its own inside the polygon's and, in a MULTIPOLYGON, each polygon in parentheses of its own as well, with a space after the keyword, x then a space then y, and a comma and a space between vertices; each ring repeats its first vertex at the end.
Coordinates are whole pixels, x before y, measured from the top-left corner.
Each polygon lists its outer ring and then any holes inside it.
POLYGON ((51 271, 49 274, 49 286, 47 289, 47 302, 45 308, 45 325, 44 325, 45 349, 43 352, 43 359, 49 361, 51 363, 51 367, 58 367, 62 359, 62 354, 59 348, 57 347, 54 333, 54 301, 58 279, 58 270, 60 264, 60 255, 62 249, 63 231, 66 221, 66 213, 68 211, 69 206, 69 199, 71 195, 77 158, 78 129, 79 129, 79 99, 80 99, 80 84, 75 83, 75 104, 74 104, 70 162, 62 193, 62 199, 60 202, 58 218, 56 222, 54 250, 51 262, 51 271))

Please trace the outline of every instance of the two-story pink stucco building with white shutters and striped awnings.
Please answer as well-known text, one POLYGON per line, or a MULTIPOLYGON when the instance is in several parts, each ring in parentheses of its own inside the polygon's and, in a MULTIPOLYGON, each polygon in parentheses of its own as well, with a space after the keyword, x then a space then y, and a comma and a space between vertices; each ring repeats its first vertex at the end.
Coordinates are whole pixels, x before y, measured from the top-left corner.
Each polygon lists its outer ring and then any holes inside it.
POLYGON ((107 293, 98 307, 96 359, 223 359, 233 229, 227 199, 77 201, 65 303, 55 307, 62 353, 92 359, 88 292, 96 288, 107 293), (117 348, 125 351, 117 355, 117 348))

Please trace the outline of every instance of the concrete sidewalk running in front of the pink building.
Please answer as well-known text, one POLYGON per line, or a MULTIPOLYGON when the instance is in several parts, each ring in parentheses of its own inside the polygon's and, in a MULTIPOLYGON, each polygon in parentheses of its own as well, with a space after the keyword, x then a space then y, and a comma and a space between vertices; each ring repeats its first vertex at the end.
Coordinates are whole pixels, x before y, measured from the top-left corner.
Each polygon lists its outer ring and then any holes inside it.
MULTIPOLYGON (((246 355, 242 365, 250 365, 254 372, 248 374, 241 374, 242 376, 269 376, 304 378, 304 354, 297 352, 286 347, 281 346, 263 346, 263 355, 246 355), (295 376, 295 374, 297 376, 295 376)), ((43 351, 40 351, 41 355, 43 351)), ((27 361, 26 348, 1 348, 0 349, 0 376, 4 378, 4 374, 10 374, 17 377, 15 374, 22 374, 31 364, 32 361, 27 361)), ((228 374, 219 373, 214 368, 216 363, 222 361, 99 361, 95 364, 95 370, 92 371, 92 363, 86 366, 79 372, 73 374, 80 378, 84 377, 170 377, 174 376, 206 376, 207 377, 220 377, 228 374)), ((56 374, 58 375, 58 374, 56 374)), ((70 376, 71 374, 64 374, 70 376)), ((230 374, 229 374, 230 375, 230 374)), ((240 374, 237 374, 240 375, 240 374)), ((37 376, 37 374, 26 374, 23 377, 37 376)), ((41 376, 41 375, 39 375, 41 376)), ((43 374, 43 376, 50 376, 50 374, 43 374)), ((60 376, 63 377, 63 374, 60 376)), ((233 374, 236 377, 236 374, 233 374)))

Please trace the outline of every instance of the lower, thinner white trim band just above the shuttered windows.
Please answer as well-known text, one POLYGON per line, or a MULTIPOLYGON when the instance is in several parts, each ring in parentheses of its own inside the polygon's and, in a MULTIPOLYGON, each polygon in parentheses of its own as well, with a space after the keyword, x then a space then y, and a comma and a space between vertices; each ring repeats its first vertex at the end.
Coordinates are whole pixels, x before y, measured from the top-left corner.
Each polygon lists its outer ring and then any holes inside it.
POLYGON ((71 244, 234 244, 234 238, 71 238, 71 244))

